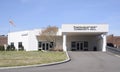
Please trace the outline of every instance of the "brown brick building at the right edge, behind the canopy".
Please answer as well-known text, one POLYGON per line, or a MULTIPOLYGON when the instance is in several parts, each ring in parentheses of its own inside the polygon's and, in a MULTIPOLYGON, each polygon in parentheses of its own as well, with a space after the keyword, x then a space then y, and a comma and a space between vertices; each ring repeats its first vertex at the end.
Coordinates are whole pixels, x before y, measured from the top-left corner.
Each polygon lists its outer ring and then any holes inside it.
POLYGON ((113 44, 113 46, 116 48, 120 48, 120 36, 114 36, 113 34, 108 35, 107 36, 107 43, 113 44))

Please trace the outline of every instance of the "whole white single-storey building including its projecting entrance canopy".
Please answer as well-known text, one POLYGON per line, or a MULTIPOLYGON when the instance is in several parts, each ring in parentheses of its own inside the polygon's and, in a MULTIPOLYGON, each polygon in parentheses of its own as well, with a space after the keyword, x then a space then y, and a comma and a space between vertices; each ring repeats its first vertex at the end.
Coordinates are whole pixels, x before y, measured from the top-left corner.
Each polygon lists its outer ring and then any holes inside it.
MULTIPOLYGON (((11 32, 8 44, 16 49, 24 47, 26 51, 49 50, 53 42, 41 41, 38 36, 42 29, 11 32)), ((57 33, 56 46, 64 51, 106 51, 107 24, 62 24, 57 33)))

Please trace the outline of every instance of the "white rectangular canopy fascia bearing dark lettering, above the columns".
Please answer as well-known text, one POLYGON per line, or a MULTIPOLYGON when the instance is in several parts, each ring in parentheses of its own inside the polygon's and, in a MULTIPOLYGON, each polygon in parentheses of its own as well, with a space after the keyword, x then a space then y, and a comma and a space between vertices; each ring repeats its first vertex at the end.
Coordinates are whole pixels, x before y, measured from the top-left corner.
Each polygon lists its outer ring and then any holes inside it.
POLYGON ((108 24, 63 24, 62 32, 108 32, 108 24))

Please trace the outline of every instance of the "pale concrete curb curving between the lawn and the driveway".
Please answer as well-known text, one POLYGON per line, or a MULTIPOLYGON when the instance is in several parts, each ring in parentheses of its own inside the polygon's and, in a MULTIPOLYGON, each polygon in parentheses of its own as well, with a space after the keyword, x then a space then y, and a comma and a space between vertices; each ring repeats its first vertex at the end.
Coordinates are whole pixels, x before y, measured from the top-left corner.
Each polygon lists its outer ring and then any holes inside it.
POLYGON ((52 62, 52 63, 46 63, 46 64, 37 64, 37 65, 26 65, 26 66, 15 66, 15 67, 1 67, 0 69, 13 69, 13 68, 28 68, 28 67, 44 67, 44 66, 52 66, 52 65, 58 65, 62 63, 69 62, 70 56, 68 55, 68 52, 65 52, 67 55, 67 59, 64 61, 59 61, 59 62, 52 62))

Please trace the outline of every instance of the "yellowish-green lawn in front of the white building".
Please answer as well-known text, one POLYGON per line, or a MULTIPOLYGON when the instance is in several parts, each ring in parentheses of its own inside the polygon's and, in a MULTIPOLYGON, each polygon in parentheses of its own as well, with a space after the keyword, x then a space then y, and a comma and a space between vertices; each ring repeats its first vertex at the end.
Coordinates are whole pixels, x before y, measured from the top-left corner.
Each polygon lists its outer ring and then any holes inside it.
POLYGON ((0 51, 0 67, 44 64, 65 59, 64 52, 0 51))

